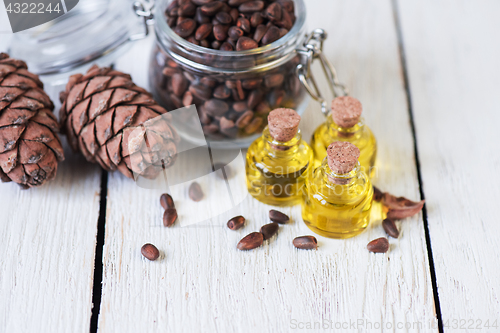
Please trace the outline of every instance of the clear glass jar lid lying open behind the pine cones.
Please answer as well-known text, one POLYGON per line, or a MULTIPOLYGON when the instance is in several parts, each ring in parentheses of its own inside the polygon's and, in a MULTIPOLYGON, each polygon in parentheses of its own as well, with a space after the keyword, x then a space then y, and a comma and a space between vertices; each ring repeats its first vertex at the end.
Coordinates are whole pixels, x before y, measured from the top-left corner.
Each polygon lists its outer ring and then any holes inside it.
POLYGON ((112 65, 131 46, 129 41, 148 34, 145 23, 152 24, 153 20, 145 8, 147 4, 131 0, 80 1, 57 19, 17 33, 8 52, 24 60, 29 70, 40 76, 58 109, 59 93, 64 91, 69 76, 85 73, 94 64, 112 65))

